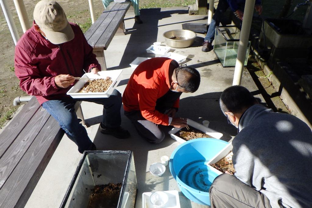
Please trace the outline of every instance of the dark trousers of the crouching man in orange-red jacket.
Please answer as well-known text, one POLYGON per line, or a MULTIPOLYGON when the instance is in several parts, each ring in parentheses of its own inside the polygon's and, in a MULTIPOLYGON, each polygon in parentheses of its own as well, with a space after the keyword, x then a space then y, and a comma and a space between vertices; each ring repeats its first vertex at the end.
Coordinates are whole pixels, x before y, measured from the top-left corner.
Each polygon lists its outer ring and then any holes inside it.
MULTIPOLYGON (((173 104, 180 98, 182 92, 173 92, 170 89, 156 101, 155 110, 165 113, 173 107, 173 104)), ((160 143, 163 141, 165 134, 157 127, 157 124, 146 119, 141 115, 141 111, 134 110, 131 112, 124 111, 124 115, 132 121, 139 135, 147 139, 150 143, 160 143)))

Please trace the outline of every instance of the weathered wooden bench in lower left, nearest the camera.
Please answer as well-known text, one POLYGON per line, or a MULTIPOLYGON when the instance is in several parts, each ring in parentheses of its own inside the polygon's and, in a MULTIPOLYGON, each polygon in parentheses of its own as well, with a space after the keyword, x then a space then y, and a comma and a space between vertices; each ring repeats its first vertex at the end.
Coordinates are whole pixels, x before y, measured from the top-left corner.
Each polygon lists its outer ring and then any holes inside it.
POLYGON ((0 134, 0 207, 25 206, 63 135, 36 97, 13 117, 0 134))

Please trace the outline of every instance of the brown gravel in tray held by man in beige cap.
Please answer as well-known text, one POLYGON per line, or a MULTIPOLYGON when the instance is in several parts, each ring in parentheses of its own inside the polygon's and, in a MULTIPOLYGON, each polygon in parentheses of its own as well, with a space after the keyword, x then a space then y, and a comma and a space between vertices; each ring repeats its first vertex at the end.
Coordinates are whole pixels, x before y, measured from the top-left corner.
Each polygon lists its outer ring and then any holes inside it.
POLYGON ((106 79, 89 80, 80 89, 80 92, 105 92, 112 83, 113 80, 111 80, 110 77, 107 77, 106 79))

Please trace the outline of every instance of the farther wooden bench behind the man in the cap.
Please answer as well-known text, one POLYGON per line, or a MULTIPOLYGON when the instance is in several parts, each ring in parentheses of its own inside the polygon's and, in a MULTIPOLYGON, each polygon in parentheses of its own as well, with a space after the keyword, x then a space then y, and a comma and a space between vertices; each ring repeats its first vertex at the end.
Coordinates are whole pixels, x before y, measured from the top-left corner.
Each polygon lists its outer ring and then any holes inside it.
POLYGON ((102 70, 107 69, 104 50, 110 45, 115 34, 124 35, 126 32, 124 28, 124 16, 129 7, 129 0, 125 2, 111 2, 100 17, 85 32, 85 38, 90 46, 93 47, 93 52, 102 70))

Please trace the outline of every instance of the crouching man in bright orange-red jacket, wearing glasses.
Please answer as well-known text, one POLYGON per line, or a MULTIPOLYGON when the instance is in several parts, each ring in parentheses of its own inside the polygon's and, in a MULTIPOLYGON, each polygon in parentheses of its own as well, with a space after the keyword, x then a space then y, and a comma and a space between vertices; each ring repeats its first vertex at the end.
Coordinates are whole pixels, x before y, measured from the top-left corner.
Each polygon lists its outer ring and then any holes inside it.
POLYGON ((183 92, 195 92, 199 84, 194 68, 164 57, 146 60, 134 70, 124 90, 124 114, 143 138, 160 143, 165 135, 157 124, 185 127, 187 119, 175 117, 179 98, 183 92))

